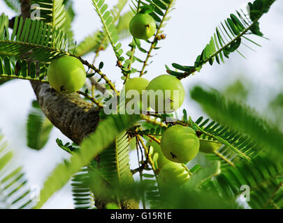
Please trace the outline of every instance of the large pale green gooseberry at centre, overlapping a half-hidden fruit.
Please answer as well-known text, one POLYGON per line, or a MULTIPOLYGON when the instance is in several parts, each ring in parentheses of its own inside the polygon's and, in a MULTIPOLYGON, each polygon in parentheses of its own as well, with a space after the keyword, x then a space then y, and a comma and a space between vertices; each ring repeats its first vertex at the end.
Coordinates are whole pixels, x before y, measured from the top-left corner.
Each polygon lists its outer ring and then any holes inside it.
POLYGON ((155 112, 175 112, 184 102, 184 87, 172 75, 160 75, 147 86, 147 100, 155 112))

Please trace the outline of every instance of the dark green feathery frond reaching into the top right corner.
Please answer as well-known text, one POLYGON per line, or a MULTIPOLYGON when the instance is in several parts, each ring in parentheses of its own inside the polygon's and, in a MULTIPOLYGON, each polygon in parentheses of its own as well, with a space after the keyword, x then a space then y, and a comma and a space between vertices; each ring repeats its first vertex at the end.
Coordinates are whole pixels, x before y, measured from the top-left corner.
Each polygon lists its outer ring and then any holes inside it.
POLYGON ((216 32, 210 39, 210 43, 205 46, 201 55, 197 57, 194 66, 181 66, 180 64, 173 63, 172 66, 181 72, 170 70, 166 66, 167 72, 170 75, 184 78, 193 72, 200 71, 205 63, 209 62, 212 65, 216 60, 220 64, 221 62, 224 63, 224 56, 229 58, 229 54, 232 52, 237 51, 241 54, 238 48, 241 43, 244 44, 243 39, 258 45, 253 40, 247 38, 247 36, 250 34, 263 36, 263 33, 259 31, 258 21, 264 13, 268 12, 274 2, 275 0, 256 0, 248 5, 249 15, 243 10, 237 11, 237 15, 231 14, 224 23, 217 26, 216 32))

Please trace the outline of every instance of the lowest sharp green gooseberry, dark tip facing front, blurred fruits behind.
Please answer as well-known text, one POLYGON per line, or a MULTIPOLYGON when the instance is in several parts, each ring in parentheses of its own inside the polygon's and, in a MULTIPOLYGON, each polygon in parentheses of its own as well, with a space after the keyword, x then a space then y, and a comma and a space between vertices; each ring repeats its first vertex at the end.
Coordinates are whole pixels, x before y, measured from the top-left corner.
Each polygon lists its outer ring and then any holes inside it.
POLYGON ((162 134, 161 150, 173 162, 187 163, 196 157, 200 141, 189 127, 174 125, 162 134))

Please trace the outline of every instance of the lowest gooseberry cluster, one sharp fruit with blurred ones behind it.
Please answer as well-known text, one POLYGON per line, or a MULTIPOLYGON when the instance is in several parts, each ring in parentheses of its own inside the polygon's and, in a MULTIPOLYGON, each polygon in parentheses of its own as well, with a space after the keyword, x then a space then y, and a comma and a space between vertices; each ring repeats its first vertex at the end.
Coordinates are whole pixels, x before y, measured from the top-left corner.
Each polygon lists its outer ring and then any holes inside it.
POLYGON ((189 180, 189 172, 184 164, 196 157, 198 151, 215 153, 221 144, 199 140, 196 132, 182 125, 173 125, 161 136, 161 144, 151 141, 148 146, 157 153, 159 183, 162 185, 182 185, 189 180))

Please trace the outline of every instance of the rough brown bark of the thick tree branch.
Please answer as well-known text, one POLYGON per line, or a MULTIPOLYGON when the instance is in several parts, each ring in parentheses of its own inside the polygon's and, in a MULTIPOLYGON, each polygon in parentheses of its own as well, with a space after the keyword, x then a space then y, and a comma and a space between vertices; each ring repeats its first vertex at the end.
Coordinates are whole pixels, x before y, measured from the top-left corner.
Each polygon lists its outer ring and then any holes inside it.
MULTIPOLYGON (((20 0, 20 2, 22 17, 30 17, 30 0, 20 0)), ((95 131, 99 124, 99 110, 80 98, 78 93, 58 93, 51 89, 50 85, 38 82, 31 82, 31 86, 45 116, 75 144, 79 145, 88 134, 95 131)), ((96 160, 99 161, 99 157, 96 160)), ((96 208, 106 207, 106 202, 103 199, 95 196, 95 201, 96 208)), ((136 209, 138 202, 122 201, 122 208, 136 209)))

